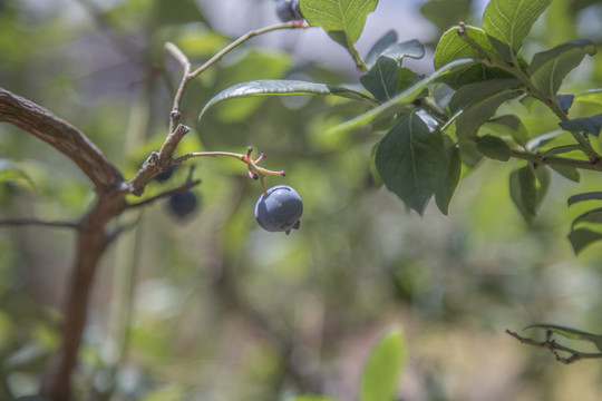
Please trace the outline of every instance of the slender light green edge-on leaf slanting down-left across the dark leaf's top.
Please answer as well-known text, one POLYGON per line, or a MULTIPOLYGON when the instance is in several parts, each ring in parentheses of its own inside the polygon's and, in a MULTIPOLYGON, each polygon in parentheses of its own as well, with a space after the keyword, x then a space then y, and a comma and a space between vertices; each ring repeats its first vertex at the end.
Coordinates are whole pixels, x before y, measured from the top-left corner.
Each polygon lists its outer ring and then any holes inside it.
POLYGON ((386 113, 392 113, 395 111, 396 109, 399 108, 399 106, 404 105, 404 104, 410 104, 411 101, 414 101, 416 99, 416 97, 418 95, 420 95, 423 92, 424 89, 427 88, 428 85, 433 84, 434 81, 436 81, 437 79, 444 77, 445 75, 447 74, 450 74, 455 70, 458 70, 458 69, 462 69, 462 68, 466 68, 466 66, 468 65, 473 65, 475 62, 475 60, 473 59, 462 59, 462 60, 456 60, 456 61, 453 61, 444 67, 441 67, 440 69, 436 70, 435 72, 433 72, 433 75, 430 75, 429 77, 426 77, 421 80, 419 80, 418 82, 416 82, 415 85, 412 85, 411 87, 409 87, 408 89, 404 90, 402 92, 398 94, 395 98, 388 100, 387 102, 383 102, 382 105, 378 106, 378 107, 375 107, 373 109, 347 121, 347 123, 343 123, 339 126, 336 126, 333 128, 331 128, 328 134, 329 135, 332 135, 332 134, 339 134, 339 133, 343 133, 343 131, 347 131, 347 130, 350 130, 350 129, 353 129, 353 128, 358 128, 358 127, 361 127, 361 126, 365 126, 365 125, 368 125, 370 124, 373 119, 376 119, 378 116, 382 115, 382 114, 386 114, 386 113))

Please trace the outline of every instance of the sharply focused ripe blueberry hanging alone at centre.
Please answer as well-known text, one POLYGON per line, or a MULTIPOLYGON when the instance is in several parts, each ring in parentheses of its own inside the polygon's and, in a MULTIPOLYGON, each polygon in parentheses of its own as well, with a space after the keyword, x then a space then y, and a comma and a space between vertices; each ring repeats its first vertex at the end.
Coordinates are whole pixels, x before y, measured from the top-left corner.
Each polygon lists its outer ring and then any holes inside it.
POLYGON ((285 232, 299 228, 299 218, 303 214, 301 197, 288 185, 276 185, 266 190, 255 205, 255 219, 269 232, 285 232))

